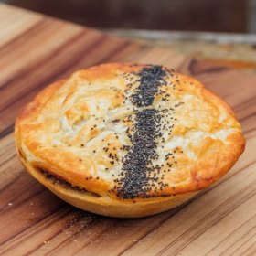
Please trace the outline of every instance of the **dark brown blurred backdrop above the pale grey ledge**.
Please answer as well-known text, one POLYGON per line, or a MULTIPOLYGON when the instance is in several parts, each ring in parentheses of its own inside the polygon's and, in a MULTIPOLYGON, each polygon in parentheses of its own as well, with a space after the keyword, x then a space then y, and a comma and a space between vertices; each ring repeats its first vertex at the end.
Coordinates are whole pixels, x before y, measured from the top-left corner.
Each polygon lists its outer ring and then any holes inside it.
POLYGON ((256 0, 4 0, 89 27, 256 33, 256 0))

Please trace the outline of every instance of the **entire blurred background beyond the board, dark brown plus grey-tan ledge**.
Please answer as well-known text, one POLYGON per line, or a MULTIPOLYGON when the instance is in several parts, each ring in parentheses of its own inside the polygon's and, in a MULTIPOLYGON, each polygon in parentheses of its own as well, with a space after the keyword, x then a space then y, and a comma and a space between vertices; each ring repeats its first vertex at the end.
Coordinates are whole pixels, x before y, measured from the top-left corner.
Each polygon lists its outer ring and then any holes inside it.
POLYGON ((0 0, 115 36, 256 71, 256 0, 0 0))

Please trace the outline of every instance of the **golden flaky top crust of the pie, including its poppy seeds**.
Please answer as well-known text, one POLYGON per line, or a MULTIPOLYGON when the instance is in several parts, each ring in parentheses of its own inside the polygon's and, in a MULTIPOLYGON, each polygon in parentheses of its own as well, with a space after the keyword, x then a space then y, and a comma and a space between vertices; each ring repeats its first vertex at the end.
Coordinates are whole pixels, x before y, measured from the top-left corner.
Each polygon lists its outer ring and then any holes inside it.
POLYGON ((244 146, 226 102, 153 65, 80 70, 41 91, 16 118, 26 167, 125 203, 208 187, 244 146))

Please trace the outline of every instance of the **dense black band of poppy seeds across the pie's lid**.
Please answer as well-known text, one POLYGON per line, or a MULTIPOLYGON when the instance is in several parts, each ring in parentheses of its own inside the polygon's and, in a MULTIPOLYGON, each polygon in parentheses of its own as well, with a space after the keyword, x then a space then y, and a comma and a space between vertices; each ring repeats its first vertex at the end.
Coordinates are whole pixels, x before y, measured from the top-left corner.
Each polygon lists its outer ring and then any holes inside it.
MULTIPOLYGON (((138 73, 139 86, 131 95, 135 107, 133 136, 128 134, 132 145, 123 157, 123 176, 118 179, 117 195, 124 199, 149 197, 147 192, 158 184, 150 174, 157 171, 152 164, 157 159, 156 139, 161 136, 159 111, 150 107, 153 104, 158 87, 166 84, 165 69, 161 66, 146 66, 138 73), (153 184, 152 184, 153 182, 153 184)), ((127 131, 130 133, 130 130, 127 131)))

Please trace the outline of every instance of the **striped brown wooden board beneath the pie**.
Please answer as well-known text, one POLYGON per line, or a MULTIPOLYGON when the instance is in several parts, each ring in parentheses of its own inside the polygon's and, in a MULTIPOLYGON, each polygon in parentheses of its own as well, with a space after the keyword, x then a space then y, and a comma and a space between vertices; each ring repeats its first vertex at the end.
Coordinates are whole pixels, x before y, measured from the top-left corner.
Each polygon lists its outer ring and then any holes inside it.
POLYGON ((213 66, 0 5, 1 255, 256 255, 256 75, 213 66), (17 110, 48 83, 110 61, 160 63, 197 77, 232 106, 247 146, 227 176, 186 206, 144 219, 73 208, 16 157, 17 110))

